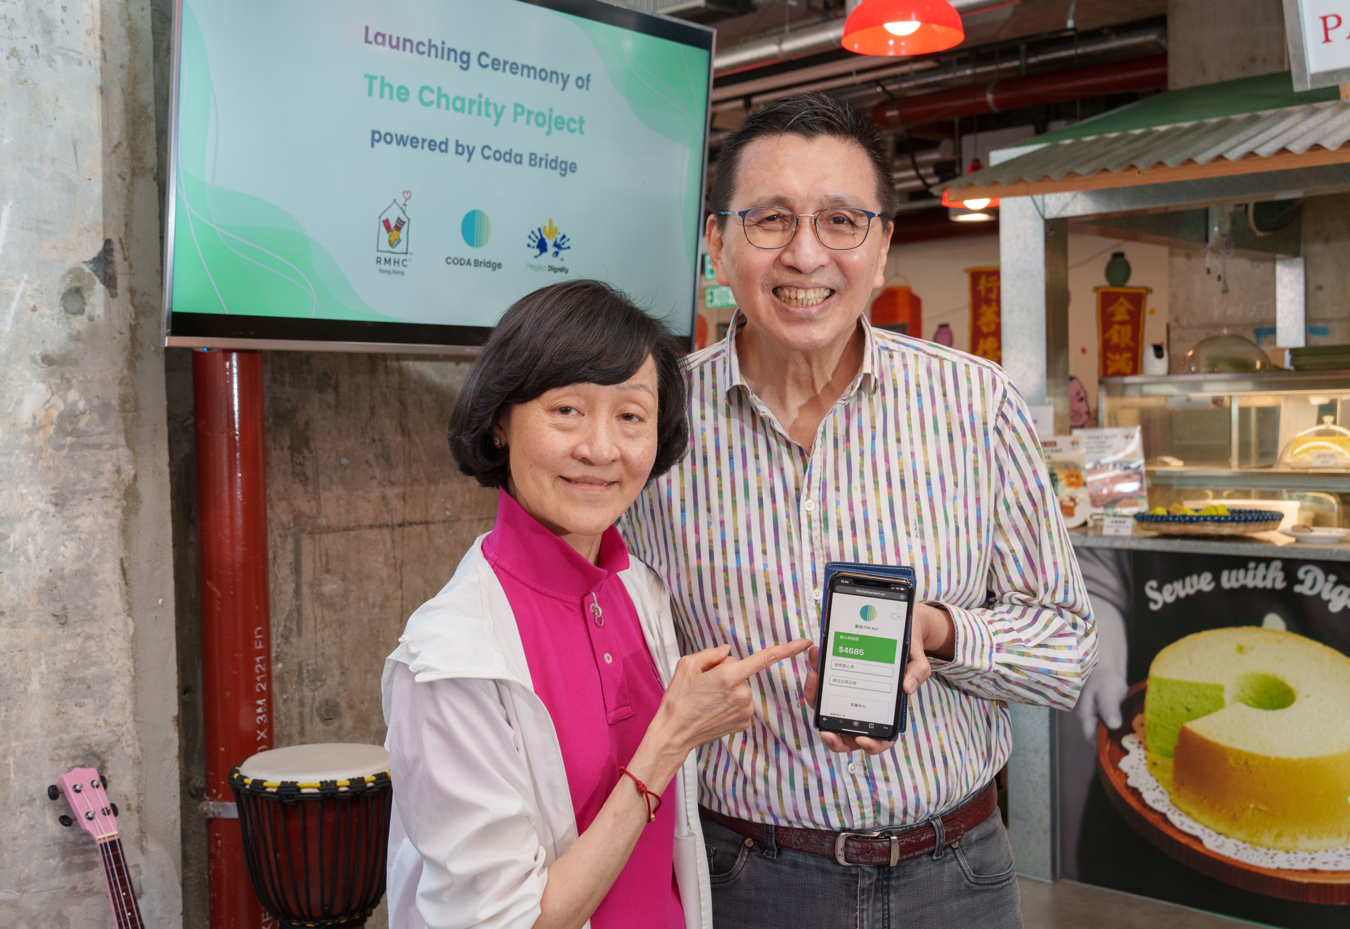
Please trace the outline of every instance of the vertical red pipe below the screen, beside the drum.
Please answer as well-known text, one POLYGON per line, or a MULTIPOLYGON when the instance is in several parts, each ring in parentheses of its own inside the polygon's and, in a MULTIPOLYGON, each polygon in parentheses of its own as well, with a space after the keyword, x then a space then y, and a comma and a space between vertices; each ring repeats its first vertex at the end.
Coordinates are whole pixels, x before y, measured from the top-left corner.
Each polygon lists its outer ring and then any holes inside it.
MULTIPOLYGON (((230 768, 273 744, 262 355, 194 351, 192 389, 207 799, 232 802, 230 768)), ((271 924, 248 882, 239 824, 209 820, 207 843, 211 929, 271 924)))

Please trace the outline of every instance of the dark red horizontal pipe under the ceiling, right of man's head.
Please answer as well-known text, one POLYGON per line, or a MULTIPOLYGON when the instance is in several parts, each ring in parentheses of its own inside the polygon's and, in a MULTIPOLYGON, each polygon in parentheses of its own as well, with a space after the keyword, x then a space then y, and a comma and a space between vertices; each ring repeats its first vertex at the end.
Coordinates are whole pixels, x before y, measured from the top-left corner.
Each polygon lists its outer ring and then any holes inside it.
POLYGON ((957 116, 999 113, 1018 107, 1066 103, 1106 93, 1149 90, 1166 85, 1168 57, 1150 55, 1111 65, 1015 77, 1010 81, 991 84, 972 84, 950 90, 887 100, 872 109, 872 119, 882 128, 902 128, 956 119, 957 116))

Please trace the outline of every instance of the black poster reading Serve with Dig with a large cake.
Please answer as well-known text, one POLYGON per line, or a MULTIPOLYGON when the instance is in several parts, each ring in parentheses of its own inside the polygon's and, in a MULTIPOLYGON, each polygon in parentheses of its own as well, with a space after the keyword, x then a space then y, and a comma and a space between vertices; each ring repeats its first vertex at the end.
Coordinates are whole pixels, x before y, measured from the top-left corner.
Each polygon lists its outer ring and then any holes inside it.
POLYGON ((1099 648, 1058 726, 1061 875, 1350 925, 1350 563, 1077 554, 1099 648))

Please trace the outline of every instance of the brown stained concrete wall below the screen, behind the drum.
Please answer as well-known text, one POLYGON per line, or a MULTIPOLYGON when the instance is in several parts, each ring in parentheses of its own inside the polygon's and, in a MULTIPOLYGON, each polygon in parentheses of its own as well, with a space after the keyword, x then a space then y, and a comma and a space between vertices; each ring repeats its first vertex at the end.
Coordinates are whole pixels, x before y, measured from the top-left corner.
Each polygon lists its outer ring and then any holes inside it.
MULTIPOLYGON (((182 681, 184 925, 207 926, 192 356, 167 359, 182 681)), ((446 427, 468 365, 394 355, 263 358, 277 745, 381 744, 379 675, 408 616, 491 528, 446 427)), ((240 759, 243 760, 243 759, 240 759)), ((383 925, 383 907, 371 926, 383 925)))

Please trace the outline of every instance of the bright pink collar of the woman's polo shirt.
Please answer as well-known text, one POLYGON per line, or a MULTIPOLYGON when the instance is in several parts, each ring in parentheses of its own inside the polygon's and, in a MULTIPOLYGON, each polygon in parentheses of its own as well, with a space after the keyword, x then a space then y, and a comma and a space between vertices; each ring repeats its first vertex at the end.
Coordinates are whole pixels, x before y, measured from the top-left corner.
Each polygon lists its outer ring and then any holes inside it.
POLYGON ((525 512, 505 487, 497 492, 497 524, 483 540, 483 554, 522 583, 559 598, 576 598, 598 590, 605 581, 628 570, 628 546, 618 529, 609 527, 591 564, 562 537, 525 512))

